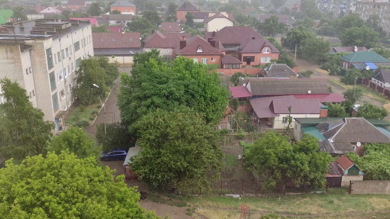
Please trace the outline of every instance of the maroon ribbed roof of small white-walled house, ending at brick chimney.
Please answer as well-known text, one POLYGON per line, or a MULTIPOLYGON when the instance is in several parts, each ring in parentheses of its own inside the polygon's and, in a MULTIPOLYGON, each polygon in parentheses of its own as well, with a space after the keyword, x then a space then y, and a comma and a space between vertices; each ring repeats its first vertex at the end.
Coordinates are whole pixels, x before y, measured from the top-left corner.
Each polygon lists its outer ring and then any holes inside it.
POLYGON ((273 100, 269 107, 275 114, 319 114, 321 105, 318 100, 273 100))

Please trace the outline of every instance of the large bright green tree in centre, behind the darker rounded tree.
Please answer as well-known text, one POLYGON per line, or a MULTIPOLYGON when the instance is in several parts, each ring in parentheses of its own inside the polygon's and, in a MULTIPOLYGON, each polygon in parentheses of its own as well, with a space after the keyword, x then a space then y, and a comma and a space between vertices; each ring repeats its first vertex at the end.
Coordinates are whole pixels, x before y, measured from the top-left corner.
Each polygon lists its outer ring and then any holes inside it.
POLYGON ((118 94, 125 124, 131 125, 157 108, 172 110, 180 105, 194 108, 206 122, 215 124, 228 104, 227 90, 221 88, 218 75, 189 58, 178 57, 169 65, 150 58, 148 62, 135 64, 131 74, 121 75, 123 86, 118 94))

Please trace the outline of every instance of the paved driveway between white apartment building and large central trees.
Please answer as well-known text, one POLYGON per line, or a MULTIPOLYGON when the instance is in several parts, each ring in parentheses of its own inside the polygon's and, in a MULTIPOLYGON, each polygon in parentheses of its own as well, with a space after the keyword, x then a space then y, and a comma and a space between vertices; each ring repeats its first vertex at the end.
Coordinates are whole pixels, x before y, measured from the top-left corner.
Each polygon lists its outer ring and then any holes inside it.
MULTIPOLYGON (((131 67, 119 67, 119 71, 126 72, 126 73, 130 74, 131 67)), ((119 109, 117 106, 117 104, 118 104, 118 99, 117 99, 118 88, 119 88, 119 86, 121 86, 121 85, 119 85, 120 81, 121 81, 121 79, 119 79, 119 78, 115 80, 115 86, 112 89, 112 92, 106 101, 106 104, 107 104, 106 105, 107 124, 110 124, 112 122, 121 121, 121 118, 119 116, 120 112, 119 112, 119 109), (114 115, 115 115, 115 119, 114 119, 114 115)), ((97 132, 97 129, 96 129, 97 125, 100 123, 104 123, 104 114, 103 114, 104 107, 100 112, 101 113, 97 115, 97 118, 96 118, 94 124, 85 128, 85 131, 88 133, 89 136, 95 137, 96 132, 97 132)))

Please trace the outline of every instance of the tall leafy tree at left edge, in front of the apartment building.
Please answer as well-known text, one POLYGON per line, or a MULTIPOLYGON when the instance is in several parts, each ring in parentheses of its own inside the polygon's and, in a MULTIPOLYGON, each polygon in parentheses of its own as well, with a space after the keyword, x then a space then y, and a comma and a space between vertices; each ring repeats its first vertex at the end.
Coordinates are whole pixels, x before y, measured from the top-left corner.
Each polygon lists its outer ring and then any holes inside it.
POLYGON ((35 108, 24 88, 8 78, 0 79, 0 154, 21 161, 26 156, 43 154, 54 124, 44 121, 44 113, 35 108))

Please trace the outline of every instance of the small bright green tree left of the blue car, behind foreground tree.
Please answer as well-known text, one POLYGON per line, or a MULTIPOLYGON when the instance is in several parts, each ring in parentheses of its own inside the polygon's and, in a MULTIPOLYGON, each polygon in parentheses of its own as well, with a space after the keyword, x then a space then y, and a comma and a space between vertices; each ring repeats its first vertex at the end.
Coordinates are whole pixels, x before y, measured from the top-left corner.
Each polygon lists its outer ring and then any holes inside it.
POLYGON ((46 150, 56 154, 68 150, 79 158, 94 157, 101 153, 101 147, 95 145, 95 141, 87 136, 87 132, 74 126, 54 136, 51 142, 47 143, 46 150))

